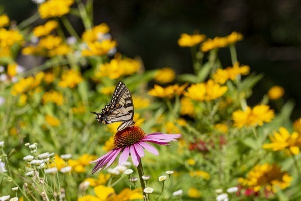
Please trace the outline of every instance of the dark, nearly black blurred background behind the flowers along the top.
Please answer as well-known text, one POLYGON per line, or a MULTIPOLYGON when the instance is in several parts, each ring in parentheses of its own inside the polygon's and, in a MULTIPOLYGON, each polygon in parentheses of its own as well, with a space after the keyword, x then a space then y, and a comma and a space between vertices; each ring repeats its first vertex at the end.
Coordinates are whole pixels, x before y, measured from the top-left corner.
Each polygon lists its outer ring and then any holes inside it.
MULTIPOLYGON (((17 23, 37 10, 30 0, 1 0, 0 5, 17 23)), ((178 74, 193 72, 190 49, 177 45, 181 33, 213 38, 241 32, 244 40, 237 44, 239 62, 265 75, 249 104, 260 102, 271 86, 280 85, 285 89, 284 99, 296 103, 292 120, 301 116, 300 1, 111 0, 94 1, 94 11, 94 24, 106 22, 110 26, 121 53, 140 57, 146 69, 169 66, 178 74)), ((70 20, 81 33, 81 21, 70 20)), ((229 50, 223 48, 219 54, 223 67, 231 66, 229 50)))

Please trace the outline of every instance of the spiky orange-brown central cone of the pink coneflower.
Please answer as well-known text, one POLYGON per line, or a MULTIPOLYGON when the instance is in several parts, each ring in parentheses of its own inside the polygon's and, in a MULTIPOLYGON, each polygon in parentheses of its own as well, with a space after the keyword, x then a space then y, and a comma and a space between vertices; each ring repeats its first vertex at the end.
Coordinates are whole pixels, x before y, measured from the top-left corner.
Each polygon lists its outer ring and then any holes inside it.
POLYGON ((114 147, 128 147, 143 139, 145 132, 138 126, 130 126, 118 131, 114 137, 114 147))

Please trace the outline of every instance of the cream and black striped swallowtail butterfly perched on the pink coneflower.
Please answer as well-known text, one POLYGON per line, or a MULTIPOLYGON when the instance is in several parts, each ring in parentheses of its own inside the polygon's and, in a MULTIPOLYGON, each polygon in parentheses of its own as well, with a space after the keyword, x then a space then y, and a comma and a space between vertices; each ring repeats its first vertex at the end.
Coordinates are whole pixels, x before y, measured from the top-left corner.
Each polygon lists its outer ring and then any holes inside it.
POLYGON ((104 124, 123 122, 117 128, 117 131, 121 131, 128 126, 133 126, 135 124, 135 121, 133 120, 133 98, 128 88, 121 81, 119 81, 116 85, 110 103, 105 105, 105 107, 101 110, 101 113, 90 113, 96 114, 97 117, 95 119, 104 124))

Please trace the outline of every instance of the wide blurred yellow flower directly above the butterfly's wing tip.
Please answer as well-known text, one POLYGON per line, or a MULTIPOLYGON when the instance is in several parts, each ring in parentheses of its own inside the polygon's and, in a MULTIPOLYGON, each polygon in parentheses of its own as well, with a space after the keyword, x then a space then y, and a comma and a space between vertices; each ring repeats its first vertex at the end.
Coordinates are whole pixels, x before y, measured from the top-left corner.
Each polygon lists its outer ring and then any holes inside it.
POLYGON ((119 79, 122 76, 138 72, 140 68, 141 63, 135 59, 112 59, 109 63, 101 64, 96 69, 95 78, 109 77, 110 79, 119 79))

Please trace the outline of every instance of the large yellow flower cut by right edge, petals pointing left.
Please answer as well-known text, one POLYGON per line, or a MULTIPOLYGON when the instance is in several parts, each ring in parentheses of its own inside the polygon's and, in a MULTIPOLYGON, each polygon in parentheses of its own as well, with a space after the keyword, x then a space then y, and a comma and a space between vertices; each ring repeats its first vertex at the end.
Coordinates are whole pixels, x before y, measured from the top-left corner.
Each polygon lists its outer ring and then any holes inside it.
POLYGON ((272 149, 273 151, 289 149, 294 155, 300 153, 301 135, 297 132, 290 134, 286 128, 280 127, 279 133, 274 132, 273 136, 270 136, 270 140, 272 143, 264 144, 264 149, 272 149))

